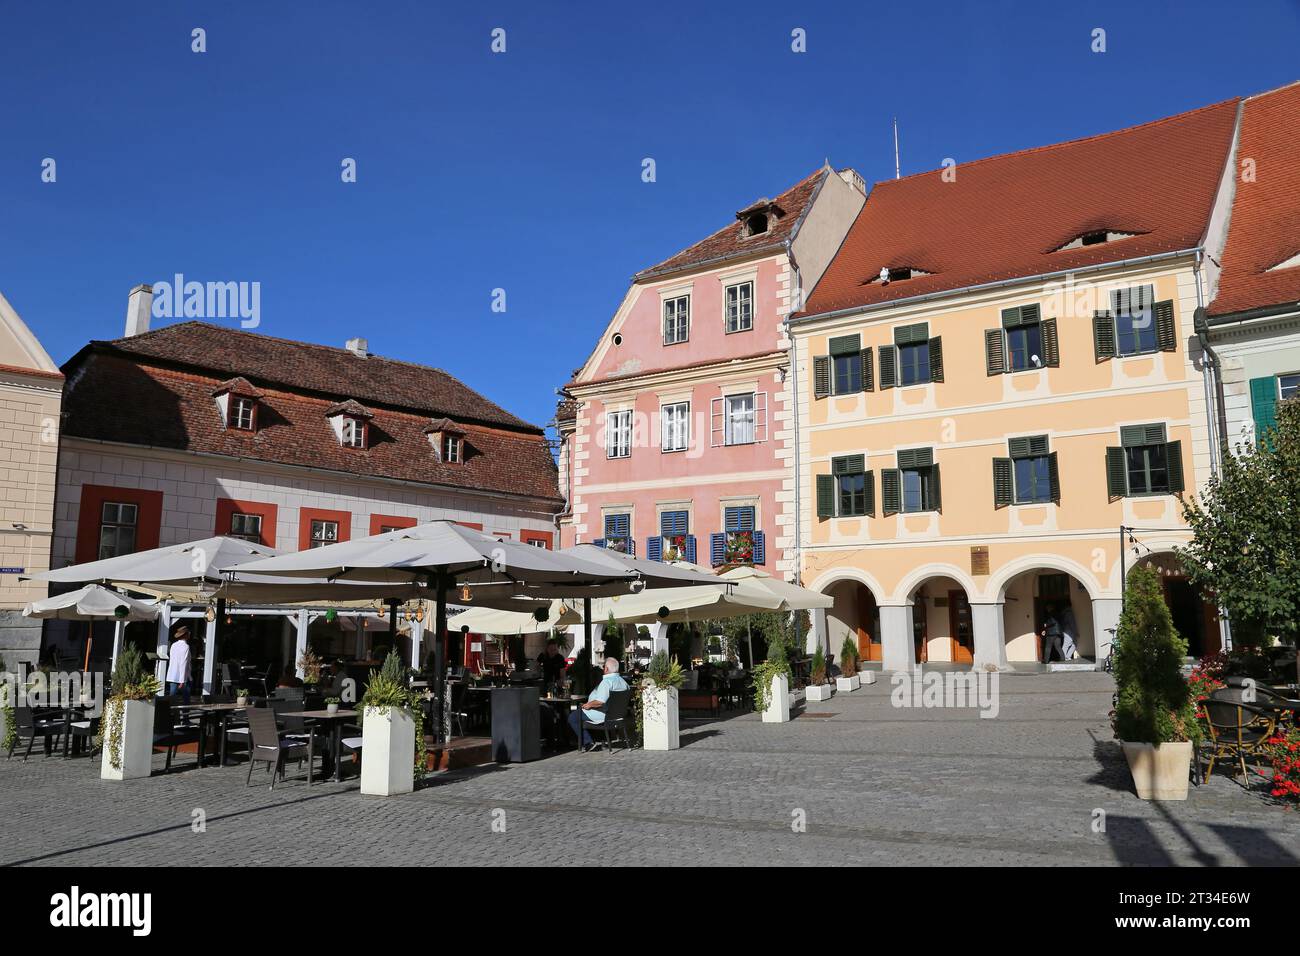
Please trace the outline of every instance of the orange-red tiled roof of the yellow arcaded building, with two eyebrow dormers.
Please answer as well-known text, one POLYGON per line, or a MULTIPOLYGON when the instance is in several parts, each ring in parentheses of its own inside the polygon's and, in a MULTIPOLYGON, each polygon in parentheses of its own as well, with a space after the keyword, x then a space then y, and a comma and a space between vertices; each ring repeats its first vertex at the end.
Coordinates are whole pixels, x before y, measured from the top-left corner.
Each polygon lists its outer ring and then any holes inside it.
POLYGON ((879 182, 803 315, 1192 248, 1238 100, 1069 143, 879 182), (1138 233, 1061 250, 1096 230, 1138 233), (933 273, 881 285, 883 267, 933 273))

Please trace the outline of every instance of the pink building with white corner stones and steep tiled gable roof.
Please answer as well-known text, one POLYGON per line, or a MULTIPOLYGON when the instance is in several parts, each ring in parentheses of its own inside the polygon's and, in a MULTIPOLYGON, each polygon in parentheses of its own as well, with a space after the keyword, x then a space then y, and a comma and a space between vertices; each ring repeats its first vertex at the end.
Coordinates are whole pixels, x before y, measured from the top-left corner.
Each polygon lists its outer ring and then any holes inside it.
POLYGON ((793 576, 785 320, 863 202, 823 166, 633 277, 562 390, 563 545, 793 576))

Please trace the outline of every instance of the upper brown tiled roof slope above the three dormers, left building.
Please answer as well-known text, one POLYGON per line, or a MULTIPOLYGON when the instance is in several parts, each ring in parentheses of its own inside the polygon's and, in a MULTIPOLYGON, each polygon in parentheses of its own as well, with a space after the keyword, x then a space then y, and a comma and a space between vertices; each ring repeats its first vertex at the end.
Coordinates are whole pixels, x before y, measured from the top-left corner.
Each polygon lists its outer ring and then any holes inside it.
MULTIPOLYGON (((160 359, 212 372, 217 380, 243 376, 261 386, 278 385, 289 392, 307 392, 334 401, 354 398, 420 411, 426 418, 447 415, 458 421, 541 432, 441 368, 381 355, 363 358, 347 349, 294 342, 208 323, 164 325, 131 338, 91 342, 87 349, 160 359)), ((82 352, 73 356, 68 365, 73 365, 82 352)))

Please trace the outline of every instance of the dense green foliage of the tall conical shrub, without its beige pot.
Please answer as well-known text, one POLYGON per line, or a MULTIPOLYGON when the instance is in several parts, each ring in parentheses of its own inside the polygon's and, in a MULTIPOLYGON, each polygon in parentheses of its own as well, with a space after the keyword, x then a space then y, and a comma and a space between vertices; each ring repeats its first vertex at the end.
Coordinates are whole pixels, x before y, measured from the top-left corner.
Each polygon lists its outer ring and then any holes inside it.
POLYGON ((1128 743, 1196 740, 1200 728, 1182 674, 1187 643, 1174 630, 1160 575, 1135 567, 1124 589, 1115 650, 1115 735, 1128 743))

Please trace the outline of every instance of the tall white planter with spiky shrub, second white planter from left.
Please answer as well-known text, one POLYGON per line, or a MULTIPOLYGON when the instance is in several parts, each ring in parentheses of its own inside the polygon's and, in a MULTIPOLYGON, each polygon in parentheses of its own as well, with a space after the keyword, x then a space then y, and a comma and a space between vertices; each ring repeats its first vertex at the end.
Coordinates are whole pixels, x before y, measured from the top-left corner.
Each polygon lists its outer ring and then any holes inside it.
POLYGON ((361 697, 361 792, 376 796, 415 790, 415 763, 424 734, 413 714, 417 702, 406 685, 402 658, 389 653, 384 669, 370 671, 361 697), (419 739, 417 739, 419 737, 419 739))

